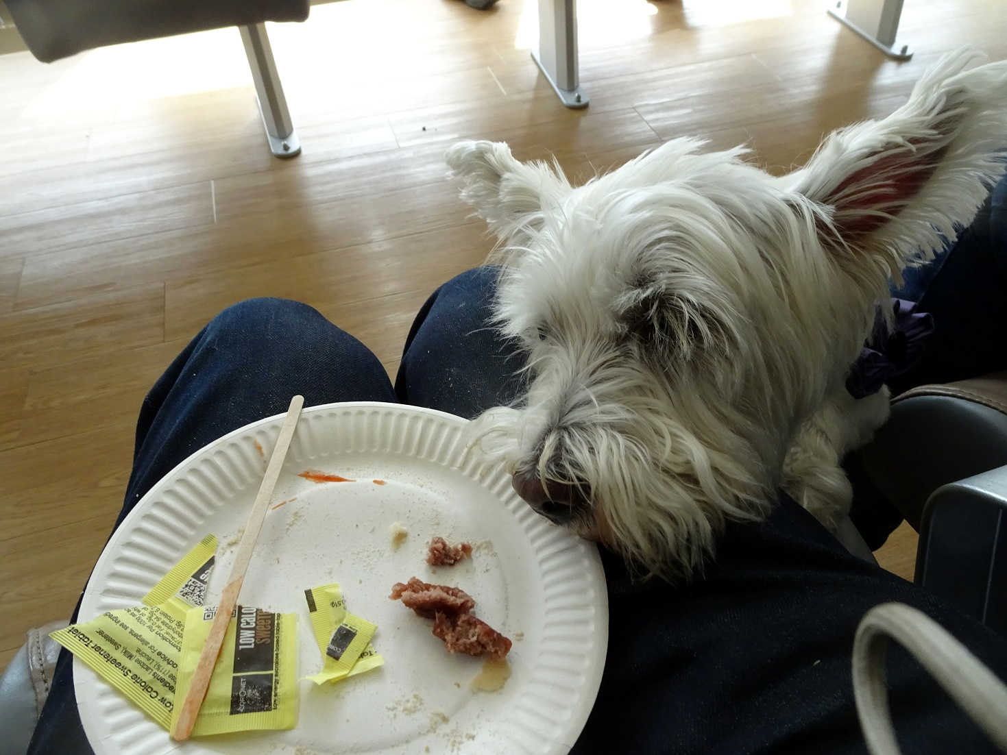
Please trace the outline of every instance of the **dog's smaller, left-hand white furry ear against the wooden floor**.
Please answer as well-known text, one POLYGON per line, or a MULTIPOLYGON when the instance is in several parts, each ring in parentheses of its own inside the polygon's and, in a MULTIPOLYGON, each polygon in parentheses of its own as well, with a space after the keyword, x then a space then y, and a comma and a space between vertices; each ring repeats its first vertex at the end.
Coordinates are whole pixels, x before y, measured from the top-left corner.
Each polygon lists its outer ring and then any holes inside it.
POLYGON ((458 142, 446 155, 461 198, 501 239, 542 226, 544 208, 558 204, 570 184, 558 168, 519 162, 502 142, 458 142))

